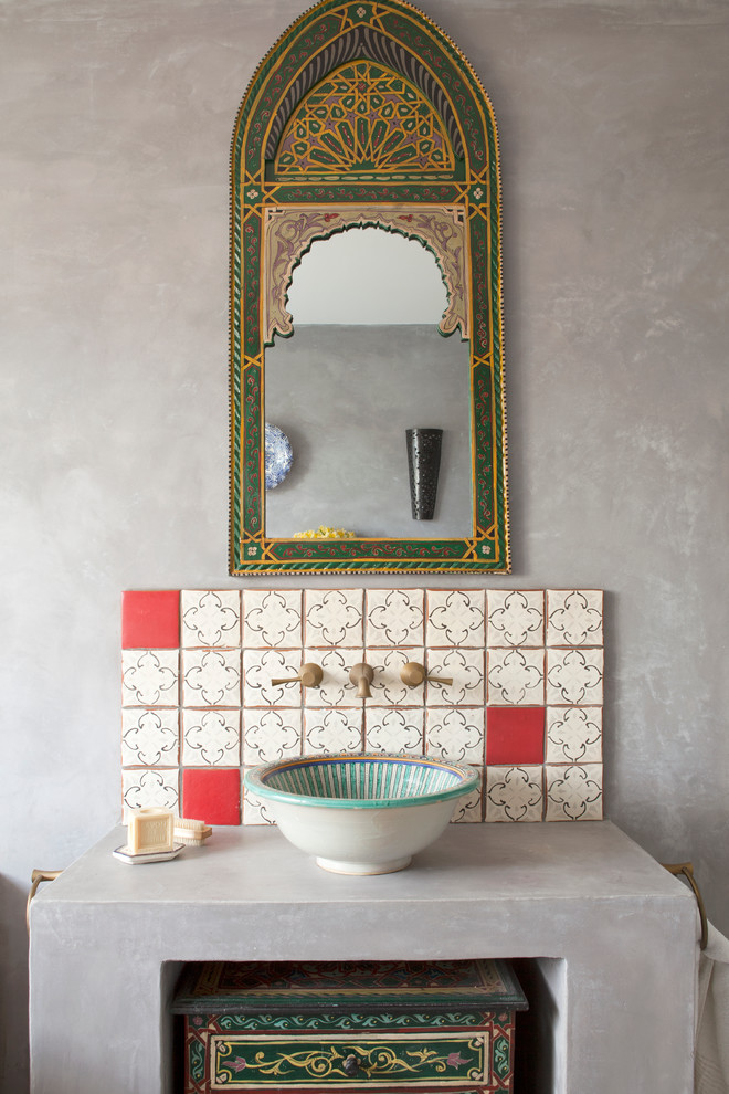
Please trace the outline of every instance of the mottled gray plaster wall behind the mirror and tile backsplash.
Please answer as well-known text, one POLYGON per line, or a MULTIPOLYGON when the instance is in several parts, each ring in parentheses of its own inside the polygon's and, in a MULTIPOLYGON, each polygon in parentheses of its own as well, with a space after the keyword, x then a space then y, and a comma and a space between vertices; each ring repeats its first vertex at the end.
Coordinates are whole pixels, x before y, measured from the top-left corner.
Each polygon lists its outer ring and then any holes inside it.
MULTIPOLYGON (((486 583, 606 590, 606 813, 659 860, 693 860, 729 930, 729 8, 421 6, 500 127, 514 574, 486 583)), ((0 6, 12 1094, 31 870, 65 866, 119 812, 120 592, 235 585, 228 152, 254 66, 305 7, 0 6)))

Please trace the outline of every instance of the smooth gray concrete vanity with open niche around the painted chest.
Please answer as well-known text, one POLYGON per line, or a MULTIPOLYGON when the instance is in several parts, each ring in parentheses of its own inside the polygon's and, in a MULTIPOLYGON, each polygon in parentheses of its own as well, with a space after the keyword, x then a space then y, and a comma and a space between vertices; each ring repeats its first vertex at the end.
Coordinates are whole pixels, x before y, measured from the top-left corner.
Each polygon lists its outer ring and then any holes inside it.
POLYGON ((401 873, 326 873, 272 828, 172 862, 116 829, 31 908, 33 1094, 167 1094, 190 960, 537 958, 540 1094, 690 1094, 693 894, 609 821, 458 824, 401 873))

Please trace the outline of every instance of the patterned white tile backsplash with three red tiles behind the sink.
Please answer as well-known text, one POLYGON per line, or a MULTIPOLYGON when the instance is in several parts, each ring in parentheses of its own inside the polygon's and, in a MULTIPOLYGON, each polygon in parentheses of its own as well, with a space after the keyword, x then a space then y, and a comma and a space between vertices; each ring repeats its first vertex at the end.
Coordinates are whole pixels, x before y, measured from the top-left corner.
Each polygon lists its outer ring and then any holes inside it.
POLYGON ((270 823, 245 768, 363 750, 477 767, 458 822, 599 820, 602 619, 599 590, 125 592, 124 808, 270 823), (319 687, 293 680, 306 662, 319 687), (409 687, 408 662, 434 679, 409 687))

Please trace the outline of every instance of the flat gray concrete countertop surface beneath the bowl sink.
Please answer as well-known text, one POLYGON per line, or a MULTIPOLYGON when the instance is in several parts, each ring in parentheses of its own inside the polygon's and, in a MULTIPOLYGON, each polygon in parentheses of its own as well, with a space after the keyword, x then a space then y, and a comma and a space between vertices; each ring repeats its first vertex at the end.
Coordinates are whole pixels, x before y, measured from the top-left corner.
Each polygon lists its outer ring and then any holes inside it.
MULTIPOLYGON (((408 869, 355 877, 321 870, 273 827, 216 828, 201 848, 131 866, 112 855, 114 829, 35 901, 213 907, 240 904, 485 901, 505 903, 651 898, 685 901, 688 888, 610 821, 574 824, 452 824, 408 869)), ((35 904, 35 902, 34 902, 35 904)))

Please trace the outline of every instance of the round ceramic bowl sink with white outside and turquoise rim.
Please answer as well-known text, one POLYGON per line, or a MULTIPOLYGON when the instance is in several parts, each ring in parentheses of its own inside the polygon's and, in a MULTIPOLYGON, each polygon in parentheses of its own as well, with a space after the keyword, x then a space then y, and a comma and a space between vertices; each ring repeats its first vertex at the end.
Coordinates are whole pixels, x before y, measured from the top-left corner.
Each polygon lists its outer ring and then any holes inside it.
POLYGON ((286 839, 340 874, 404 870, 477 782, 469 767, 382 754, 297 756, 245 774, 286 839))

